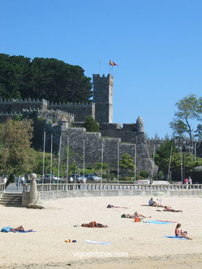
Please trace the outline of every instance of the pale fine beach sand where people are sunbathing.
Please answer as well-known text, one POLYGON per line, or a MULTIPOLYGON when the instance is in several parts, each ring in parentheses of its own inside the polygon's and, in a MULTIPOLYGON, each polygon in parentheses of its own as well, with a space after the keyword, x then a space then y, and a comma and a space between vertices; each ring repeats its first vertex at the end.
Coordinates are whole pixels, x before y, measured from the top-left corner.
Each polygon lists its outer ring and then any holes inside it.
MULTIPOLYGON (((159 197, 154 197, 154 200, 159 197)), ((46 209, 0 206, 0 227, 23 225, 37 232, 0 232, 0 268, 181 269, 202 268, 202 199, 160 197, 163 205, 183 212, 159 212, 141 206, 150 197, 74 197, 46 201, 46 209), (126 208, 107 208, 108 204, 126 208), (176 223, 135 223, 123 213, 137 210, 150 220, 176 221, 193 240, 170 239, 176 223), (97 221, 108 228, 74 225, 97 221), (66 243, 65 240, 77 240, 66 243), (110 245, 85 243, 110 242, 110 245)))

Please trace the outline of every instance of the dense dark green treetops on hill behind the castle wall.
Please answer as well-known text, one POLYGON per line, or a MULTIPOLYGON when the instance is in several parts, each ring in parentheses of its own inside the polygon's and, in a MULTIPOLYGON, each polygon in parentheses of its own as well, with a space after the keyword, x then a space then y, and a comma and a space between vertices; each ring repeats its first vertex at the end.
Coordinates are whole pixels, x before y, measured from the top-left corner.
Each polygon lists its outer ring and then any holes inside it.
POLYGON ((80 66, 57 59, 0 54, 0 97, 86 102, 92 97, 90 77, 80 66))

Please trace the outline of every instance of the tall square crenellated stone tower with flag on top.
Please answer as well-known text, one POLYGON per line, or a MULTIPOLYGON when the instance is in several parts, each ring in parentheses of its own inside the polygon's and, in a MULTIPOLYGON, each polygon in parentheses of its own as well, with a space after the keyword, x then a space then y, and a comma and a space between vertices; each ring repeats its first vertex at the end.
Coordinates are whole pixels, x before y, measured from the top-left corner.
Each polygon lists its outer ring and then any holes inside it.
POLYGON ((113 76, 93 74, 93 102, 95 103, 95 121, 98 123, 113 122, 113 76))

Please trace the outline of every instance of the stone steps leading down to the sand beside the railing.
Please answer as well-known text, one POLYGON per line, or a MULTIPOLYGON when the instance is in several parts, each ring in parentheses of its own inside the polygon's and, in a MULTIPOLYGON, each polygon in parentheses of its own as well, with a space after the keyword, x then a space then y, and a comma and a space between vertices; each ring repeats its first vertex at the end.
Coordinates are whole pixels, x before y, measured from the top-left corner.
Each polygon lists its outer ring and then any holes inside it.
POLYGON ((21 193, 3 193, 0 199, 1 206, 22 206, 22 194, 21 193))

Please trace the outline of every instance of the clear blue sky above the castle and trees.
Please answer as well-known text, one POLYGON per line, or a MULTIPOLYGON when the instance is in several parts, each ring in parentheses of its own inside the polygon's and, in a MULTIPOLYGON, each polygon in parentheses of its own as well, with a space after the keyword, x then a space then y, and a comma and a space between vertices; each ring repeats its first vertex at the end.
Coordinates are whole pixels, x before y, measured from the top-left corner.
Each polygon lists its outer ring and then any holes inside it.
POLYGON ((114 123, 172 135, 175 103, 201 96, 201 0, 1 0, 0 52, 114 76, 114 123), (101 61, 101 66, 99 65, 101 61))

